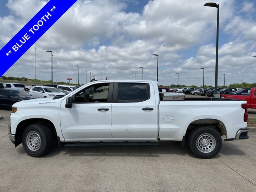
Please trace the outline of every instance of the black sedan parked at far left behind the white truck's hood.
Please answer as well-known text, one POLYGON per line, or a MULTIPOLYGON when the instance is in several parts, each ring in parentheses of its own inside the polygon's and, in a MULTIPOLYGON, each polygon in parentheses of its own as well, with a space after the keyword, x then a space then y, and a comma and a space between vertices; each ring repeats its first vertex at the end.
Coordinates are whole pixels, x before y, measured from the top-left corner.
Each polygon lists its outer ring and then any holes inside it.
POLYGON ((11 109, 12 105, 19 101, 34 99, 36 97, 26 91, 14 89, 0 89, 0 108, 11 109))

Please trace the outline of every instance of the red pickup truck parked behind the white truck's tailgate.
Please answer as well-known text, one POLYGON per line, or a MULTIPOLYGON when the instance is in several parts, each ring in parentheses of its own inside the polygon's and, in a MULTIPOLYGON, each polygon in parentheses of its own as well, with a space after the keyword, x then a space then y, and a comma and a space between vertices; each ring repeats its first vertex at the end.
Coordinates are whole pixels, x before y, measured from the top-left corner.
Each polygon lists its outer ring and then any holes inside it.
POLYGON ((221 98, 245 100, 247 101, 248 108, 255 109, 256 108, 256 87, 252 88, 249 94, 241 94, 241 95, 222 94, 221 98))

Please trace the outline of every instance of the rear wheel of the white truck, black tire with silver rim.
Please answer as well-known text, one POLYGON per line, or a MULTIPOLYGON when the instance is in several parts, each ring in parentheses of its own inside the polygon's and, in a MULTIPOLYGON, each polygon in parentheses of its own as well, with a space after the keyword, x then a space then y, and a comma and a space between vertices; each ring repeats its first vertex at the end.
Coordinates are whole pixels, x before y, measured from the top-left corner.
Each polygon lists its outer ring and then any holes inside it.
POLYGON ((188 136, 188 148, 198 158, 213 158, 220 152, 221 147, 220 134, 213 128, 198 127, 188 136))

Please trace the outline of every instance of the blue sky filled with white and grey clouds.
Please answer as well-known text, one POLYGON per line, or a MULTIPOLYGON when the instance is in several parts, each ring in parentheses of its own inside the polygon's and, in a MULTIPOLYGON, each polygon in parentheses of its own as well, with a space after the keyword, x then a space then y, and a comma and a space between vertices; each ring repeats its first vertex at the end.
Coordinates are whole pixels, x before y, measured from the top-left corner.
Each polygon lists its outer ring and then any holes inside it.
MULTIPOLYGON (((0 48, 48 1, 0 0, 0 48)), ((217 9, 205 0, 78 0, 5 74, 76 83, 90 79, 156 80, 214 85, 217 9)), ((211 1, 210 1, 211 2, 211 1)), ((220 4, 218 85, 256 82, 256 2, 220 4)))

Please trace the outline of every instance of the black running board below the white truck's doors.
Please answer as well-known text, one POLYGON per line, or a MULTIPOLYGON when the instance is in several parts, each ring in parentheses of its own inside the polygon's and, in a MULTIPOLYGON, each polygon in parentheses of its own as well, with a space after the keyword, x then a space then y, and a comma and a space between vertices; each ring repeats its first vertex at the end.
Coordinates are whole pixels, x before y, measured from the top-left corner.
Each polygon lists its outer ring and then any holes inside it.
POLYGON ((158 142, 77 142, 67 143, 65 147, 76 146, 157 146, 158 142))

